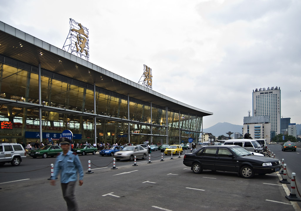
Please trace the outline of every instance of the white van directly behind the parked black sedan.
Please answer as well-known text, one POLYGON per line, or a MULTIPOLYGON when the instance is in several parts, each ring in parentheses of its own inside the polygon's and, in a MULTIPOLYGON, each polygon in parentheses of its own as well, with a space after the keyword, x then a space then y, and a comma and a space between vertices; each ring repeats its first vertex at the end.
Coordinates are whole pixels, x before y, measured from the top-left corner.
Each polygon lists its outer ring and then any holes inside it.
POLYGON ((225 140, 225 145, 238 145, 249 152, 263 153, 261 145, 254 139, 231 139, 225 140))

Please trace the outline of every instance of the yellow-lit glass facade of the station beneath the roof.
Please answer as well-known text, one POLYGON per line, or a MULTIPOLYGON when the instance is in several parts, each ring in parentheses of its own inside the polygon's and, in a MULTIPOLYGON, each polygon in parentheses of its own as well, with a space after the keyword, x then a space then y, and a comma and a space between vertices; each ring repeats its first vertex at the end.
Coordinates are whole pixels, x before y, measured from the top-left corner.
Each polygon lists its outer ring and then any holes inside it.
POLYGON ((58 140, 57 134, 68 129, 75 142, 179 143, 188 138, 198 141, 202 116, 160 107, 128 96, 91 86, 79 86, 0 63, 0 98, 15 100, 2 104, 0 121, 11 124, 0 129, 1 142, 35 141, 40 132, 39 106, 42 107, 42 137, 58 140), (128 100, 129 99, 129 100, 128 100), (29 105, 26 103, 30 103, 29 105), (36 106, 35 106, 36 105, 36 106), (95 109, 96 108, 96 109, 95 109), (95 122, 96 118, 96 122, 95 122), (96 133, 96 135, 95 135, 96 133))

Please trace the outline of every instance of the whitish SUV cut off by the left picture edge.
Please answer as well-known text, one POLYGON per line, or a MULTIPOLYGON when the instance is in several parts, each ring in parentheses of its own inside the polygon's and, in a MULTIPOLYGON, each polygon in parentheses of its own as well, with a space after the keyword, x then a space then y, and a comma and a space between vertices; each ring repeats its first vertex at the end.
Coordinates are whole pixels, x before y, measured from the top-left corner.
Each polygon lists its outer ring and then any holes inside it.
POLYGON ((0 143, 0 165, 11 163, 11 165, 20 165, 22 158, 26 158, 26 152, 21 144, 18 143, 0 143))

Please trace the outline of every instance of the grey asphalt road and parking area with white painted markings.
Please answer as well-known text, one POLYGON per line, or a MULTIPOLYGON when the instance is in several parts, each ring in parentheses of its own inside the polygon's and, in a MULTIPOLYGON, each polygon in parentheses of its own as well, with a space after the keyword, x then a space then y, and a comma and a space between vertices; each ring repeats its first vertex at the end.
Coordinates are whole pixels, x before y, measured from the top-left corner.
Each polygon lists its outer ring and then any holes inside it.
MULTIPOLYGON (((184 155, 174 159, 163 156, 161 162, 160 154, 151 153, 152 163, 137 160, 138 166, 132 166, 134 162, 116 162, 118 169, 114 170, 112 157, 79 156, 85 172, 88 160, 99 166, 92 165, 94 173, 85 174, 84 184, 76 187, 80 210, 300 210, 299 202, 285 198, 284 187, 290 185, 280 184, 276 173, 255 175, 253 179, 231 172, 194 174, 183 165, 184 155)), ((47 180, 48 166, 54 161, 55 158, 27 158, 17 167, 1 166, 0 172, 20 172, 0 173, 1 208, 66 210, 59 181, 51 186, 47 180), (39 168, 45 169, 22 172, 39 168)))

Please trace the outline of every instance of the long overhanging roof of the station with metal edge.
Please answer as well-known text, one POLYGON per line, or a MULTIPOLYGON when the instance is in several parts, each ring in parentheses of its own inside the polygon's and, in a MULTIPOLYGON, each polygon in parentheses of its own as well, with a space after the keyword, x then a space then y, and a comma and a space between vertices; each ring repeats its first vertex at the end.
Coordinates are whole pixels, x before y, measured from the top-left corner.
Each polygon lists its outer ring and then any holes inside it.
POLYGON ((56 74, 162 107, 201 116, 213 115, 179 102, 50 45, 0 21, 0 54, 56 74))

